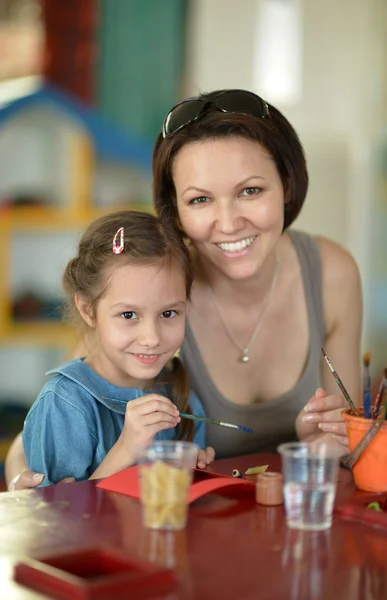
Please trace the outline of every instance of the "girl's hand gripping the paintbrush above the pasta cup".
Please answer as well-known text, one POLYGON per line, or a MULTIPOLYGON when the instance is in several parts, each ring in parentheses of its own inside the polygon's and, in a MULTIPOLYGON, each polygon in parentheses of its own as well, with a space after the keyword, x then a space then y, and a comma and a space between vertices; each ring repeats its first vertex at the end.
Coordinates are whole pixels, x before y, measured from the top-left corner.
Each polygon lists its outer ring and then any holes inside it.
POLYGON ((154 436, 163 429, 176 427, 180 422, 179 411, 168 398, 149 394, 126 405, 125 423, 119 443, 136 461, 154 436))

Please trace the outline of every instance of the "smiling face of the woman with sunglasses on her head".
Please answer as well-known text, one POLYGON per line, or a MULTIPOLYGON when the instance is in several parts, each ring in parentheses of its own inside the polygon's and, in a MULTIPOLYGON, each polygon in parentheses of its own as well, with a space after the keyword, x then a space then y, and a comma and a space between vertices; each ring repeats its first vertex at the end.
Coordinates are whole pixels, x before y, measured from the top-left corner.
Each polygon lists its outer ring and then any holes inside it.
POLYGON ((201 262, 231 279, 256 275, 284 224, 284 190, 273 160, 241 137, 185 145, 173 163, 177 208, 201 262))

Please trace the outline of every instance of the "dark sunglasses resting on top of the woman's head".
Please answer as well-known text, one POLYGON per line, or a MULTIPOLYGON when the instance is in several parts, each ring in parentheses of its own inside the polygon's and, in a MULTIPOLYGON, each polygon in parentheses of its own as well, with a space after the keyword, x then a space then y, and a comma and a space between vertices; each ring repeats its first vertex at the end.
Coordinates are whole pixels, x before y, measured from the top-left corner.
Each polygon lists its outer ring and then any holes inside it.
POLYGON ((264 119, 270 116, 265 100, 246 90, 225 90, 206 98, 184 100, 176 104, 164 119, 163 138, 173 135, 200 119, 209 109, 224 113, 242 113, 264 119))

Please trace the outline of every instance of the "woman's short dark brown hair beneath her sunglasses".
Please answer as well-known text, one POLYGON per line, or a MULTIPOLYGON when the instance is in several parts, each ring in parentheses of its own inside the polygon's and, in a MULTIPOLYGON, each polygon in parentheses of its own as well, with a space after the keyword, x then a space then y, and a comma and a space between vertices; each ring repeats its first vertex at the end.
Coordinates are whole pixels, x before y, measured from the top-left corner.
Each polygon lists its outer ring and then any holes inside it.
MULTIPOLYGON (((202 94, 197 99, 213 98, 217 93, 220 91, 202 94)), ((210 107, 196 121, 167 138, 160 133, 153 150, 153 201, 157 214, 179 224, 172 168, 175 156, 185 144, 243 137, 258 142, 274 161, 285 195, 284 229, 289 227, 304 203, 308 171, 297 133, 279 110, 271 105, 268 107, 270 115, 264 119, 242 113, 224 113, 210 107)))

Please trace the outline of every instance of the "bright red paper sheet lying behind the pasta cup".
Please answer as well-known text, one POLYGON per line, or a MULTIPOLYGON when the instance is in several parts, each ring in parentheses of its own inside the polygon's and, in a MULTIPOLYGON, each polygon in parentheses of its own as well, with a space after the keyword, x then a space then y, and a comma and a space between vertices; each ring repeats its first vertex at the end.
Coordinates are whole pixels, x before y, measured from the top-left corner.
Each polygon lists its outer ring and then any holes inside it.
MULTIPOLYGON (((254 482, 247 481, 246 479, 236 479, 218 473, 208 473, 203 471, 203 474, 204 473, 208 475, 208 478, 191 485, 188 502, 194 502, 201 496, 204 496, 204 494, 225 487, 244 485, 251 488, 251 486, 255 486, 254 482)), ((138 467, 129 467, 129 469, 125 469, 124 471, 114 473, 114 475, 110 475, 97 483, 97 487, 106 490, 107 492, 117 492, 119 494, 124 494, 125 496, 131 496, 132 498, 139 498, 140 485, 138 467)))

